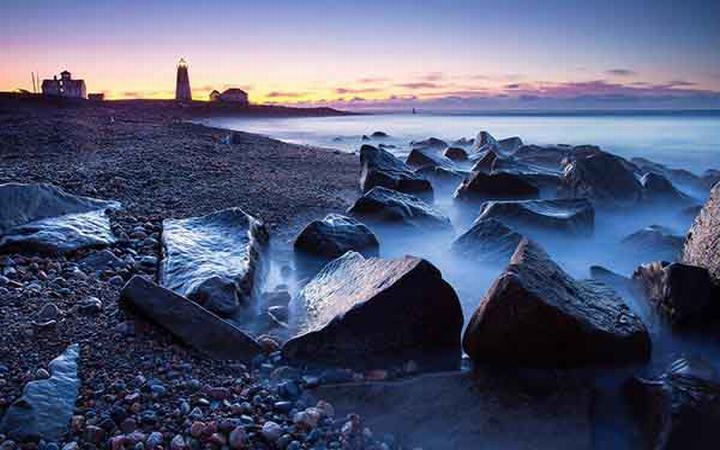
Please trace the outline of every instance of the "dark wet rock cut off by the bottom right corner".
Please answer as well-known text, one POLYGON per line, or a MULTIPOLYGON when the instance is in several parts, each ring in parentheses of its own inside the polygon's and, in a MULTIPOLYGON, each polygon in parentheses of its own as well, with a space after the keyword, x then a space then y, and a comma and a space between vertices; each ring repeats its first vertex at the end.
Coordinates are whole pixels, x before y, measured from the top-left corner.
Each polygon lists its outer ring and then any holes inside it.
POLYGON ((625 392, 647 448, 715 448, 720 440, 720 380, 698 359, 679 359, 657 379, 635 377, 625 392))

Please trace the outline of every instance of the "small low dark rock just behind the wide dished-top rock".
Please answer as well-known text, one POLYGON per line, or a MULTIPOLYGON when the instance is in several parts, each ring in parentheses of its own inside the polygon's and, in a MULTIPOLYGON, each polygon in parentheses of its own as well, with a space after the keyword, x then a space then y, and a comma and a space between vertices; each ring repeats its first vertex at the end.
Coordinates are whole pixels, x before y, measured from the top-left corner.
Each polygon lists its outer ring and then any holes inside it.
POLYGON ((482 201, 493 199, 537 198, 540 190, 523 179, 510 173, 473 172, 455 191, 458 200, 482 201))

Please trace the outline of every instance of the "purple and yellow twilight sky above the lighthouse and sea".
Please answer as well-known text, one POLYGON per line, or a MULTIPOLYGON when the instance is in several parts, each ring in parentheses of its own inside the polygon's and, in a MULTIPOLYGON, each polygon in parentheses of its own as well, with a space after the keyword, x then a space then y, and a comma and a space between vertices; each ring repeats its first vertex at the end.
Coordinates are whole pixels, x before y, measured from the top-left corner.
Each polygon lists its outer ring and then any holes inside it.
POLYGON ((2 0, 0 91, 345 109, 720 108, 720 1, 2 0))

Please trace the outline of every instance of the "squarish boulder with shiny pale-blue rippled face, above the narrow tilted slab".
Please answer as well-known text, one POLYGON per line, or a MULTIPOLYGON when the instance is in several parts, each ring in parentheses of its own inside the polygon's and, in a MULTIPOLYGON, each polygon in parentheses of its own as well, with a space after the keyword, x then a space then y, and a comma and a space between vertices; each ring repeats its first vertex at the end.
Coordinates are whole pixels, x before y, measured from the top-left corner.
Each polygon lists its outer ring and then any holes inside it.
POLYGON ((163 221, 160 284, 223 317, 248 307, 266 264, 268 232, 240 208, 163 221))

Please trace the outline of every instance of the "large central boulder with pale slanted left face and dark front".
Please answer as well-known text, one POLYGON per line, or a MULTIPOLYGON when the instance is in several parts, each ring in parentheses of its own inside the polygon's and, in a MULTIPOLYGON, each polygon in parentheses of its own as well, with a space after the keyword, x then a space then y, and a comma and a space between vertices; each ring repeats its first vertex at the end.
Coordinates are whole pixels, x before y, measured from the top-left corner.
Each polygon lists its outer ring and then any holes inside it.
POLYGON ((365 258, 330 262, 292 300, 299 335, 290 360, 365 366, 426 361, 456 366, 463 315, 453 288, 428 261, 365 258))

